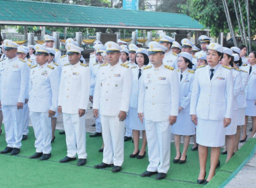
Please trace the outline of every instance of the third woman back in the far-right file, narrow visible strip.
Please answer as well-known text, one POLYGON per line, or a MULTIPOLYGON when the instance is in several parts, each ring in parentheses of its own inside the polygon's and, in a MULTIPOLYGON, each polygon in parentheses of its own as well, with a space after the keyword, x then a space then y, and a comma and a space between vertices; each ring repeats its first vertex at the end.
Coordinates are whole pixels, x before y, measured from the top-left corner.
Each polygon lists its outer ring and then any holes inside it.
MULTIPOLYGON (((246 96, 245 96, 245 87, 247 86, 249 73, 247 71, 243 71, 240 68, 243 62, 238 54, 232 54, 234 56, 234 67, 238 68, 241 73, 241 88, 239 91, 237 98, 238 111, 237 111, 237 130, 236 130, 236 144, 234 146, 234 153, 238 150, 238 143, 241 137, 241 127, 245 126, 245 107, 247 107, 246 96)), ((245 130, 246 135, 246 130, 245 130)), ((245 142, 245 140, 242 140, 245 142)))

